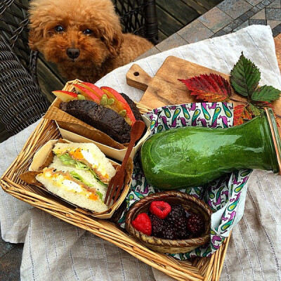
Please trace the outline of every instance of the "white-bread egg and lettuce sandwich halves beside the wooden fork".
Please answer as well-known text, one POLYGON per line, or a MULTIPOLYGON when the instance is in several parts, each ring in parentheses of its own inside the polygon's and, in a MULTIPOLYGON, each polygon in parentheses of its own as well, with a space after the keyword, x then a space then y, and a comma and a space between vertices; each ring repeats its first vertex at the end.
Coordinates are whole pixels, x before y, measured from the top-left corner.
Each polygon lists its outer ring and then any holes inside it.
POLYGON ((53 162, 36 180, 48 192, 83 209, 102 212, 107 186, 115 168, 93 143, 56 143, 53 162))

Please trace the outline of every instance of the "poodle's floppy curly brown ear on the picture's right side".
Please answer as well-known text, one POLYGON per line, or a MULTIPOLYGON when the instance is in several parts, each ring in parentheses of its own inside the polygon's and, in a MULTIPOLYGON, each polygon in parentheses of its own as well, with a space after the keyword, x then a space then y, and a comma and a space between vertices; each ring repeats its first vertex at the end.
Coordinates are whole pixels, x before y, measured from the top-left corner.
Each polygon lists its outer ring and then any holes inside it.
POLYGON ((110 55, 113 58, 119 55, 121 45, 123 43, 122 29, 121 26, 115 26, 115 29, 112 30, 112 27, 105 28, 105 33, 103 34, 103 41, 110 51, 110 55))

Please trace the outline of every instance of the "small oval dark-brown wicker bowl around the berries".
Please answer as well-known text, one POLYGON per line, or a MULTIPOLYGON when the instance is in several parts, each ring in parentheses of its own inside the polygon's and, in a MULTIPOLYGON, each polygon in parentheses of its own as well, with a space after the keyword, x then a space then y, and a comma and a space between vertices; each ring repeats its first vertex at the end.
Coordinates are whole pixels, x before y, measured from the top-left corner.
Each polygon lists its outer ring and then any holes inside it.
POLYGON ((178 254, 192 251, 200 245, 210 241, 211 209, 207 204, 194 196, 181 191, 157 192, 139 200, 129 209, 126 215, 126 230, 137 240, 140 240, 146 247, 161 253, 178 254), (200 214, 204 218, 205 229, 200 237, 186 240, 169 240, 154 236, 148 236, 136 230, 131 222, 141 213, 148 213, 152 201, 164 201, 171 205, 181 204, 183 208, 193 214, 200 214))

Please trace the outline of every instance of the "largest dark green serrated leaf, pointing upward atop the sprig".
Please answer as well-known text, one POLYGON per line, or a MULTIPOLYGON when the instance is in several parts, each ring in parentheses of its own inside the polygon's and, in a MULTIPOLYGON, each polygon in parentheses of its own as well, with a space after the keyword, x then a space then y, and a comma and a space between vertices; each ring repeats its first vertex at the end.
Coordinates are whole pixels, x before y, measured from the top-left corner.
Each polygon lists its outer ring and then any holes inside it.
POLYGON ((230 72, 230 83, 242 96, 249 96, 254 93, 256 87, 259 85, 261 79, 261 72, 251 60, 248 60, 243 52, 230 72))

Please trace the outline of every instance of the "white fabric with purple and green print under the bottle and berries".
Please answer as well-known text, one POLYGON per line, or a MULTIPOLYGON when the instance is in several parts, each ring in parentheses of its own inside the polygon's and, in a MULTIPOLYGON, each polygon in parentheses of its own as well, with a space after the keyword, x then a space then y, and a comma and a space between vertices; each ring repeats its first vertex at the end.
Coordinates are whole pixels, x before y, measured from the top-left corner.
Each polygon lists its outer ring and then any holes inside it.
MULTIPOLYGON (((146 114, 151 120, 151 134, 183 126, 207 126, 227 128, 233 126, 232 103, 190 103, 158 107, 146 114)), ((247 192, 247 180, 251 170, 240 170, 218 178, 205 186, 181 189, 204 202, 214 211, 211 216, 211 236, 209 244, 184 254, 171 254, 185 260, 195 256, 210 256, 223 240, 230 235, 230 230, 240 221, 244 212, 247 192)), ((141 170, 139 158, 134 161, 131 190, 126 197, 126 209, 119 220, 124 228, 126 212, 138 200, 155 192, 160 192, 149 185, 141 170)))

